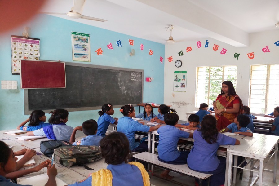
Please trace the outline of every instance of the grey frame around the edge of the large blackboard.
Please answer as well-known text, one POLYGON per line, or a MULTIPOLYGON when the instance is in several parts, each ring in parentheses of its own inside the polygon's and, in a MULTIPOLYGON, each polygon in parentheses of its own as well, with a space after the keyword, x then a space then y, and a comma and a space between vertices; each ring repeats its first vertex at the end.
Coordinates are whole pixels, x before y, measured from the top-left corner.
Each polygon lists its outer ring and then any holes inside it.
MULTIPOLYGON (((143 102, 143 83, 144 83, 144 70, 143 69, 128 69, 128 68, 120 68, 120 67, 112 67, 112 66, 101 66, 101 65, 92 65, 92 64, 71 63, 71 62, 64 62, 64 63, 65 63, 65 65, 69 65, 69 66, 139 72, 139 73, 141 73, 141 102, 143 102)), ((67 86, 67 79, 66 79, 66 86, 67 86)), ((28 89, 24 89, 24 114, 25 115, 28 115, 33 111, 32 109, 31 110, 29 109, 28 96, 29 96, 28 89)), ((125 104, 130 104, 130 103, 125 103, 125 104)), ((134 106, 136 106, 136 104, 139 104, 139 103, 132 103, 132 105, 134 105, 134 106)), ((79 108, 64 108, 64 109, 68 110, 69 112, 84 111, 84 110, 100 110, 101 106, 102 105, 94 106, 94 107, 79 107, 79 108)), ((123 104, 122 105, 113 105, 114 108, 120 108, 121 106, 123 106, 123 104)), ((45 113, 48 113, 50 111, 53 111, 54 109, 43 109, 43 111, 45 113)))

